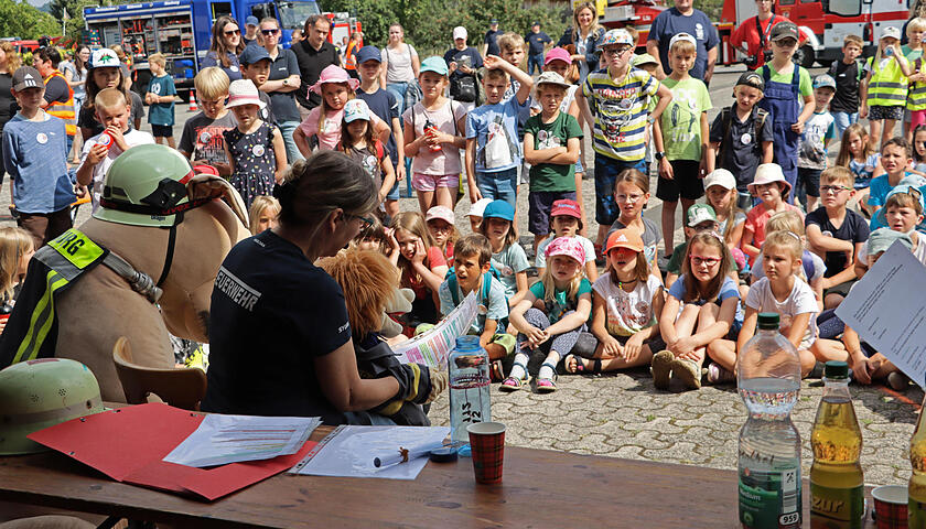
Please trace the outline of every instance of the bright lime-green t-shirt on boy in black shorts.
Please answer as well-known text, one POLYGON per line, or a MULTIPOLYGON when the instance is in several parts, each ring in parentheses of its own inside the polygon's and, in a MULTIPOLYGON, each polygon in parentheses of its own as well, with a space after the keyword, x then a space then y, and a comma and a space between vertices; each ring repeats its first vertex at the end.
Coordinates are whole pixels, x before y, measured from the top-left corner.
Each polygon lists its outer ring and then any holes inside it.
POLYGON ((667 78, 663 85, 672 91, 663 111, 663 142, 669 160, 701 160, 701 112, 711 108, 711 96, 701 79, 667 78))

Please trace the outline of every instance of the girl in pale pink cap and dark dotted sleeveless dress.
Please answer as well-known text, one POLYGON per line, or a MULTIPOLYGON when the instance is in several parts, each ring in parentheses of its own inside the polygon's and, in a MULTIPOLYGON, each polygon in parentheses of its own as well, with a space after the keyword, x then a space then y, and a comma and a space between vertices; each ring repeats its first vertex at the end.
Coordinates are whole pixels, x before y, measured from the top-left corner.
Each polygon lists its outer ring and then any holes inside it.
POLYGON ((232 82, 227 107, 238 127, 223 132, 225 153, 232 165, 232 186, 250 207, 260 195, 271 195, 273 183, 283 180, 287 149, 276 125, 260 119, 257 112, 267 104, 260 100, 257 87, 248 79, 232 82))

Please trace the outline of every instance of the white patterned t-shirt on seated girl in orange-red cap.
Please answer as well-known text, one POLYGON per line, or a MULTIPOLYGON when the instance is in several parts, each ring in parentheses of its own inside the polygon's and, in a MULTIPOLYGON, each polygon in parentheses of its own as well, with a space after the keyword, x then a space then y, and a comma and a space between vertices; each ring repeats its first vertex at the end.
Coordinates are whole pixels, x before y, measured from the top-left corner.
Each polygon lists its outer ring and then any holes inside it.
POLYGON ((609 272, 592 284, 592 290, 604 298, 607 334, 633 336, 656 325, 653 298, 663 290, 663 283, 655 276, 649 276, 645 283, 637 281, 632 292, 625 292, 614 284, 609 272))

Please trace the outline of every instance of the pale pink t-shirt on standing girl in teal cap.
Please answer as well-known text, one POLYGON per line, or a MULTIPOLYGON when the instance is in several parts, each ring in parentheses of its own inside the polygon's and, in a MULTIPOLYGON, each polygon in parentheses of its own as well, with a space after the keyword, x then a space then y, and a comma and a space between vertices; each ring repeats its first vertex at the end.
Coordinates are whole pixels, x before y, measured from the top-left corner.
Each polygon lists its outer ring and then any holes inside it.
MULTIPOLYGON (((424 123, 431 121, 441 132, 453 136, 464 136, 466 131, 456 126, 456 121, 466 116, 466 108, 452 100, 437 110, 426 110, 424 105, 417 102, 412 108, 402 114, 405 126, 414 125, 414 137, 424 136, 424 123), (453 115, 451 115, 451 106, 453 115), (413 116, 412 116, 412 112, 413 116)), ((442 143, 441 150, 431 152, 427 144, 421 145, 418 152, 407 152, 407 156, 414 156, 411 162, 411 171, 414 173, 446 175, 460 174, 463 164, 460 163, 460 149, 450 143, 442 143)))

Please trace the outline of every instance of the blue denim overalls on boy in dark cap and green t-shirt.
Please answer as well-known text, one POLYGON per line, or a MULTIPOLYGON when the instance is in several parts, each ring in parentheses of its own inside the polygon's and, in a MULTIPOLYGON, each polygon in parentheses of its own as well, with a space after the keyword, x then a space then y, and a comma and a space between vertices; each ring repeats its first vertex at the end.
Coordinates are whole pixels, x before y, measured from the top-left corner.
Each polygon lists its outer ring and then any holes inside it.
MULTIPOLYGON (((772 118, 774 141, 772 148, 773 160, 782 166, 785 180, 795 188, 797 183, 797 148, 800 134, 793 131, 790 126, 797 122, 800 115, 800 67, 794 65, 794 76, 790 85, 772 80, 772 66, 764 65, 762 78, 765 80, 765 96, 758 101, 758 107, 767 110, 772 118)), ((794 193, 788 195, 788 203, 794 204, 794 193)))

